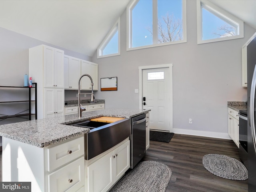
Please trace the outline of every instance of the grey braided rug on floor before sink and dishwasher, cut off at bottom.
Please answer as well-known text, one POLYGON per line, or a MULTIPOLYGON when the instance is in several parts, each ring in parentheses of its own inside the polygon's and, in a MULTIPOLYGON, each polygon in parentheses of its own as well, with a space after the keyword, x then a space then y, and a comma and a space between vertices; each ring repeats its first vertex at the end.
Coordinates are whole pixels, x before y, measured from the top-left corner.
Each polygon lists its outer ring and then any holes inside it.
POLYGON ((171 169, 156 161, 142 161, 129 170, 110 192, 165 192, 171 169))

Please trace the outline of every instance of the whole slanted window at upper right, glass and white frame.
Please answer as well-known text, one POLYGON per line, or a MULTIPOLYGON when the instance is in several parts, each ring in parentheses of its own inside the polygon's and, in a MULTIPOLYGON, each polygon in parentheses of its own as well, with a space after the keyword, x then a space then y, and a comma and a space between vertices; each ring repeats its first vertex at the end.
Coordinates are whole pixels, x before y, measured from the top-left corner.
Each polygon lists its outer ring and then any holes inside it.
POLYGON ((198 44, 244 37, 244 22, 207 0, 197 0, 198 44))

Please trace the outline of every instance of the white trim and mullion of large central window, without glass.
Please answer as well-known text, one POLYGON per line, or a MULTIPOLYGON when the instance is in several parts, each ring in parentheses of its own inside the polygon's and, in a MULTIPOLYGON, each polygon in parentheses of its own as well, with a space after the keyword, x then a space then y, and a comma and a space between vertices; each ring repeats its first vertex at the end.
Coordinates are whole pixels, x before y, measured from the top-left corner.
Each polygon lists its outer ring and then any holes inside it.
POLYGON ((131 50, 138 50, 144 48, 151 48, 151 47, 158 47, 158 46, 166 46, 171 44, 179 44, 179 43, 186 43, 187 42, 187 9, 186 9, 186 0, 182 0, 182 32, 183 32, 183 40, 179 41, 172 41, 166 43, 158 43, 157 42, 157 25, 158 20, 157 18, 157 1, 153 0, 153 44, 146 45, 146 46, 139 46, 139 47, 132 47, 132 9, 136 6, 139 0, 132 0, 130 4, 126 7, 126 51, 131 50), (156 27, 155 27, 155 26, 156 27))

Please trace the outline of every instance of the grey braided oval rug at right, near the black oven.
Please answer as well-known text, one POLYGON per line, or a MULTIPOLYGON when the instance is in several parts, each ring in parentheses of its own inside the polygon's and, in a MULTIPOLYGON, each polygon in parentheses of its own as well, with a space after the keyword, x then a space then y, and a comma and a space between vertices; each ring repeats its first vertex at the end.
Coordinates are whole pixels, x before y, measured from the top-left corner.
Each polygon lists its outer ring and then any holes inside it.
POLYGON ((248 179, 248 170, 244 164, 226 155, 207 154, 203 157, 203 166, 210 173, 225 179, 248 179))

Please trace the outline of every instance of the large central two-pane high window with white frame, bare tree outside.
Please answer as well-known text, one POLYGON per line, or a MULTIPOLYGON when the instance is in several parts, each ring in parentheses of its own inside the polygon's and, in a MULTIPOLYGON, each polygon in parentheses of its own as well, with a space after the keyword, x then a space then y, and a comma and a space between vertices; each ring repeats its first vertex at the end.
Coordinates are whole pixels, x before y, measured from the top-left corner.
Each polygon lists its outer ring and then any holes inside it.
POLYGON ((134 0, 127 24, 127 50, 186 42, 186 1, 134 0))

